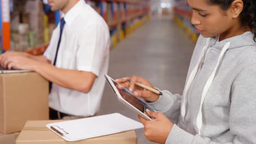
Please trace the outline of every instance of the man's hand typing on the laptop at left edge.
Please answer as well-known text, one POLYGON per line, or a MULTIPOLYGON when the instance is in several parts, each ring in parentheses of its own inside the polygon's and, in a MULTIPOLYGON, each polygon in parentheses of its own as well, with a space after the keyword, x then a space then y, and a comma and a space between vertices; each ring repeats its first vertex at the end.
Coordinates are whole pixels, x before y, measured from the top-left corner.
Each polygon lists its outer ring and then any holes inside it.
POLYGON ((1 63, 4 68, 17 68, 22 70, 31 70, 35 71, 36 66, 38 65, 37 61, 34 61, 31 58, 24 56, 15 56, 15 57, 6 57, 1 63))

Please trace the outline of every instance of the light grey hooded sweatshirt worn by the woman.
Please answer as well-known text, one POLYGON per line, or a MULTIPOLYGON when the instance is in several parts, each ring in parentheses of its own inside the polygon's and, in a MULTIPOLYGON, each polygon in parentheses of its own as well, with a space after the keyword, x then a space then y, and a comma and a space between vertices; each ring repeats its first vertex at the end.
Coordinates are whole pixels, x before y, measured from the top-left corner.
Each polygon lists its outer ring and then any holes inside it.
POLYGON ((166 143, 256 143, 253 36, 199 37, 183 95, 162 91, 148 103, 174 123, 166 143))

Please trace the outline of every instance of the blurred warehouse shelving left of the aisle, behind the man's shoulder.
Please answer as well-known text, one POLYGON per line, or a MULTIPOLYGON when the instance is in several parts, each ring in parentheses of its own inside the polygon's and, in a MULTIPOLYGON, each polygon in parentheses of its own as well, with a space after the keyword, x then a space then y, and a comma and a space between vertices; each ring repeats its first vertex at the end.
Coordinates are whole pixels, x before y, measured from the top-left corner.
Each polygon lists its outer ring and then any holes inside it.
MULTIPOLYGON (((149 19, 149 0, 91 0, 108 23, 111 48, 149 19)), ((90 4, 90 3, 89 3, 90 4)))

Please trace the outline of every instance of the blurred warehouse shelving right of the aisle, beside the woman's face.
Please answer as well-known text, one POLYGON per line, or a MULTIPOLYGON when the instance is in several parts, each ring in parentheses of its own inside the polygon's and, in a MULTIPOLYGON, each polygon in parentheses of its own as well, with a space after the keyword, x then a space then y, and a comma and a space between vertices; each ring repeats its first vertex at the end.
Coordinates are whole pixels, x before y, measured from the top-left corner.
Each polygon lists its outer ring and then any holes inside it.
POLYGON ((196 42, 200 33, 197 32, 195 26, 191 24, 192 9, 189 7, 188 3, 184 0, 176 0, 176 7, 173 8, 173 11, 174 21, 177 22, 179 27, 184 30, 185 34, 187 34, 192 41, 196 42))

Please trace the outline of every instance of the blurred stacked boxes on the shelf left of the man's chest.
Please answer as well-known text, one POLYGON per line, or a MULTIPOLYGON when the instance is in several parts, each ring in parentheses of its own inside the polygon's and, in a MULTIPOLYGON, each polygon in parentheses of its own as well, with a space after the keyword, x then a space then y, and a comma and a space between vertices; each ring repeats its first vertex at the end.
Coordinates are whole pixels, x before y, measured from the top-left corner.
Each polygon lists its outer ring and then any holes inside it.
POLYGON ((49 43, 52 28, 46 23, 41 0, 13 1, 11 13, 11 50, 27 51, 49 43))

